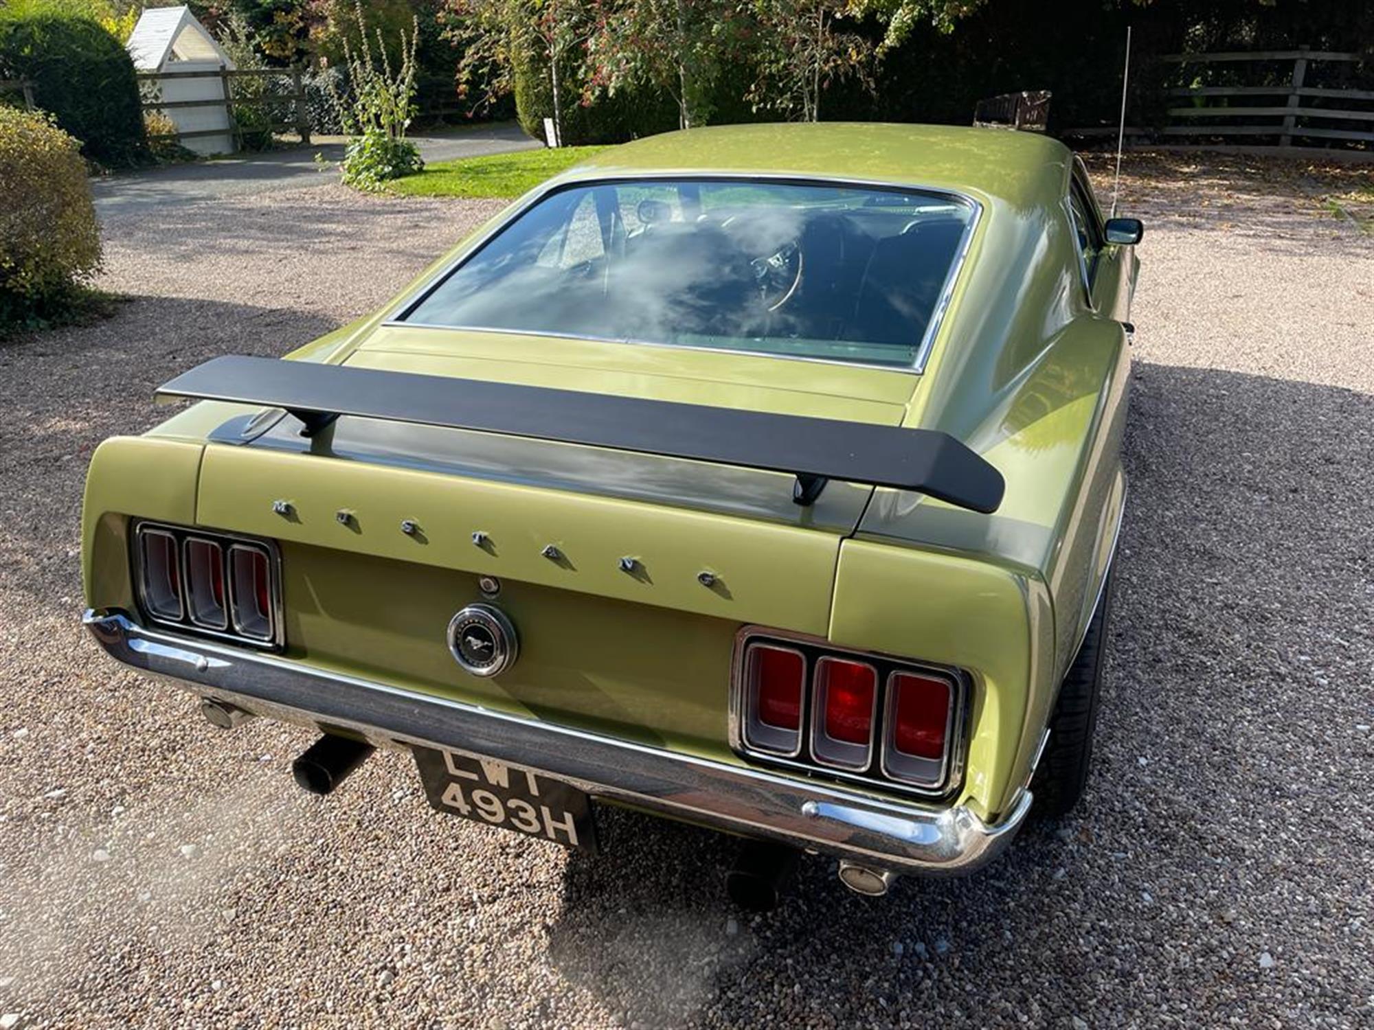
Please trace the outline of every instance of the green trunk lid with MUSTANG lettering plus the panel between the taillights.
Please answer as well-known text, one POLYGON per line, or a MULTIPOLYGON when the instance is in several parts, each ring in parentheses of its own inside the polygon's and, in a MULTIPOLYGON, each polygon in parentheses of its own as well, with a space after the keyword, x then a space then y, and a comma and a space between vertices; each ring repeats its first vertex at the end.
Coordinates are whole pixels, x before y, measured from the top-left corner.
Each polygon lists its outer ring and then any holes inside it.
MULTIPOLYGON (((879 424, 901 422, 915 383, 811 361, 404 327, 374 332, 346 364, 879 424)), ((800 507, 791 485, 778 472, 356 417, 304 439, 287 419, 249 445, 206 449, 196 520, 280 541, 294 655, 719 751, 738 628, 823 636, 841 541, 871 494, 833 482, 800 507), (279 500, 289 516, 273 512, 279 500), (407 520, 414 533, 401 531, 407 520), (496 680, 464 673, 445 639, 453 613, 482 599, 480 577, 499 580, 492 603, 521 637, 519 661, 496 680)))

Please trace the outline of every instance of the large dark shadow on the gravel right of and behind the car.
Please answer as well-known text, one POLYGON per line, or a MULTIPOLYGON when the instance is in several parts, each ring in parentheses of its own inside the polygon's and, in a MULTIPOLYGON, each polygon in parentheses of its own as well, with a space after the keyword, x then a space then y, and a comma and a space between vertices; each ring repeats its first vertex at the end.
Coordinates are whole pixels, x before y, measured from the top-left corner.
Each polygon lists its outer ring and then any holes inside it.
MULTIPOLYGON (((1359 829, 1347 808, 1374 795, 1374 748, 1355 726, 1374 655, 1374 397, 1146 364, 1134 387, 1107 685, 1079 812, 1030 824, 969 879, 899 880, 882 900, 807 858, 793 895, 754 917, 724 895, 734 842, 607 810, 605 853, 566 865, 550 930, 563 976, 627 1026, 940 1012, 1116 1026, 1154 1004, 1127 983, 1201 990, 1204 1007, 1261 997, 1278 981, 1256 956, 1275 939, 1293 942, 1294 968, 1334 963, 1329 982, 1360 982, 1340 927, 1374 846, 1374 820, 1359 829)), ((1315 1009, 1359 1003, 1355 987, 1311 990, 1315 1009)))

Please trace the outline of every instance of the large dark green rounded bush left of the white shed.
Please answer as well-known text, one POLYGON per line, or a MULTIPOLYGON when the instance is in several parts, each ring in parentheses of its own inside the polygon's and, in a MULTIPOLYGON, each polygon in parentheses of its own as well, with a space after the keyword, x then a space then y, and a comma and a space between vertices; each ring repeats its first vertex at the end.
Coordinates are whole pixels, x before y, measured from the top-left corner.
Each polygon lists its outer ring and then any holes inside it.
POLYGON ((89 18, 0 7, 0 78, 27 78, 38 107, 111 168, 148 161, 133 60, 89 18))

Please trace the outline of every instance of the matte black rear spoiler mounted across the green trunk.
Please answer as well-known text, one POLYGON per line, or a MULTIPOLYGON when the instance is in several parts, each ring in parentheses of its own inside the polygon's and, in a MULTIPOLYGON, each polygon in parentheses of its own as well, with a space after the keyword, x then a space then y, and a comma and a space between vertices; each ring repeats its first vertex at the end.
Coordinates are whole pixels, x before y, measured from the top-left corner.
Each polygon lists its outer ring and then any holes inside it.
POLYGON ((267 357, 217 357, 157 393, 284 408, 306 437, 350 415, 789 472, 798 504, 841 479, 993 512, 1004 489, 996 468, 934 430, 267 357))

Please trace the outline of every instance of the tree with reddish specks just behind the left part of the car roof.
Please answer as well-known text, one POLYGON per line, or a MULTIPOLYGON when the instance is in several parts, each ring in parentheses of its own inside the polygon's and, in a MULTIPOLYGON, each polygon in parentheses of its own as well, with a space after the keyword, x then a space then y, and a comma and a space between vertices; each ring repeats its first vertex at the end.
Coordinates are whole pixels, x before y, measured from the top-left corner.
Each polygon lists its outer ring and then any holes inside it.
POLYGON ((595 0, 587 100, 647 84, 677 104, 677 125, 710 117, 710 88, 749 33, 742 0, 595 0))

